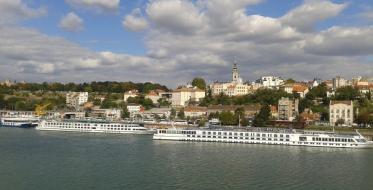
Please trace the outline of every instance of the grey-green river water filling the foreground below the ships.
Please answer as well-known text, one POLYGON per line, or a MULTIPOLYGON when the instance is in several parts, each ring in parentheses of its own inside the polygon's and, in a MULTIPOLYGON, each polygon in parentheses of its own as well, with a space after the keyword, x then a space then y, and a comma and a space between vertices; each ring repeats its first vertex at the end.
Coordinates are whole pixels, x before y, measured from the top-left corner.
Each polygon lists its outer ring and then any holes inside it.
POLYGON ((371 189, 370 149, 0 128, 0 189, 371 189))

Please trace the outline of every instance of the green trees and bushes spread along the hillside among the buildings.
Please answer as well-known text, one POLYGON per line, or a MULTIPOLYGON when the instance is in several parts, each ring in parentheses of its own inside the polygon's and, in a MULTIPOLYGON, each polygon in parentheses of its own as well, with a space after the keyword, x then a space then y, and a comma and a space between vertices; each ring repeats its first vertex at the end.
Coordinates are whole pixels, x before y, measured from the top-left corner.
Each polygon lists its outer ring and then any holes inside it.
MULTIPOLYGON (((296 82, 293 79, 287 79, 285 84, 296 82)), ((326 83, 321 83, 317 87, 309 88, 309 92, 300 97, 297 93, 287 93, 284 89, 259 88, 252 93, 241 96, 228 96, 223 93, 213 95, 212 90, 206 84, 203 78, 194 78, 191 81, 192 86, 205 90, 206 96, 198 102, 190 101, 189 106, 236 106, 237 109, 223 110, 219 113, 210 113, 200 118, 206 122, 211 118, 218 118, 223 125, 237 125, 240 121, 242 126, 265 127, 270 121, 275 120, 272 115, 272 108, 278 106, 278 101, 282 97, 289 99, 299 99, 299 114, 293 122, 304 122, 302 113, 306 115, 313 114, 318 116, 321 122, 329 121, 329 103, 331 100, 353 101, 354 122, 360 127, 365 128, 373 125, 373 101, 371 93, 363 94, 358 88, 353 86, 344 86, 335 90, 334 95, 328 96, 330 87, 326 83), (245 115, 245 106, 257 106, 259 109, 252 118, 245 115)), ((123 110, 123 118, 129 116, 126 108, 127 104, 139 104, 146 110, 156 107, 171 108, 170 100, 160 98, 157 102, 146 98, 146 95, 154 90, 171 90, 158 83, 134 83, 134 82, 90 82, 90 83, 13 83, 11 85, 0 85, 0 109, 33 111, 37 105, 49 106, 46 110, 60 111, 68 110, 65 104, 65 94, 69 91, 84 91, 89 93, 88 102, 101 109, 117 108, 123 110), (123 93, 136 90, 139 95, 123 100, 123 93)), ((188 105, 187 105, 188 106, 188 105)), ((187 118, 184 109, 171 109, 171 119, 187 119, 196 121, 197 118, 187 118)), ((315 121, 318 121, 315 120, 315 121)), ((202 123, 201 123, 202 124, 202 123)), ((312 124, 311 124, 312 125, 312 124)), ((343 123, 341 123, 343 126, 343 123)), ((307 126, 307 128, 314 128, 307 126)), ((317 127, 323 129, 322 127, 317 127)))

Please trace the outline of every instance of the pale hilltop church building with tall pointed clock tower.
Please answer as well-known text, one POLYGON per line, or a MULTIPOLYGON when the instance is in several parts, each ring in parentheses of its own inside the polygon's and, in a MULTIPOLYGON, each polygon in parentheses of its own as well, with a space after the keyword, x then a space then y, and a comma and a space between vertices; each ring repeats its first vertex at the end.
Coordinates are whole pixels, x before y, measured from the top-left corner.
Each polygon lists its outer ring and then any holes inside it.
POLYGON ((223 93, 228 96, 240 96, 249 94, 253 91, 251 85, 244 84, 240 73, 237 68, 237 64, 233 65, 232 69, 232 81, 231 82, 215 82, 210 85, 212 95, 219 95, 223 93))

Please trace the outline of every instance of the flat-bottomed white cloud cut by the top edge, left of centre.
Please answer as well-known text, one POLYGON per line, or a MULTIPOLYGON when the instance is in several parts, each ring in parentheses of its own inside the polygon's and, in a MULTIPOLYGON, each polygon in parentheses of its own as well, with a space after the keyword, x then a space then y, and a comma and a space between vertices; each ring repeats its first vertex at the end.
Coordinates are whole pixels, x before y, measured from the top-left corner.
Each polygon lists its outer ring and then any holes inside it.
POLYGON ((120 0, 65 0, 77 9, 93 10, 97 13, 113 12, 119 8, 120 0))

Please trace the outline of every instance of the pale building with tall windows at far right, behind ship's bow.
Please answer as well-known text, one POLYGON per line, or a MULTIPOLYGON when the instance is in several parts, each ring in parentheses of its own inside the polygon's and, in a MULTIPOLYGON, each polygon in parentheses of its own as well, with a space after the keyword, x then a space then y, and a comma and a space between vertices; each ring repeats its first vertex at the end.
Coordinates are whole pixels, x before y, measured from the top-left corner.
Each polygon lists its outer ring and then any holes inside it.
POLYGON ((352 126, 354 122, 353 102, 331 100, 329 105, 329 121, 332 126, 335 126, 337 121, 341 125, 352 126))

